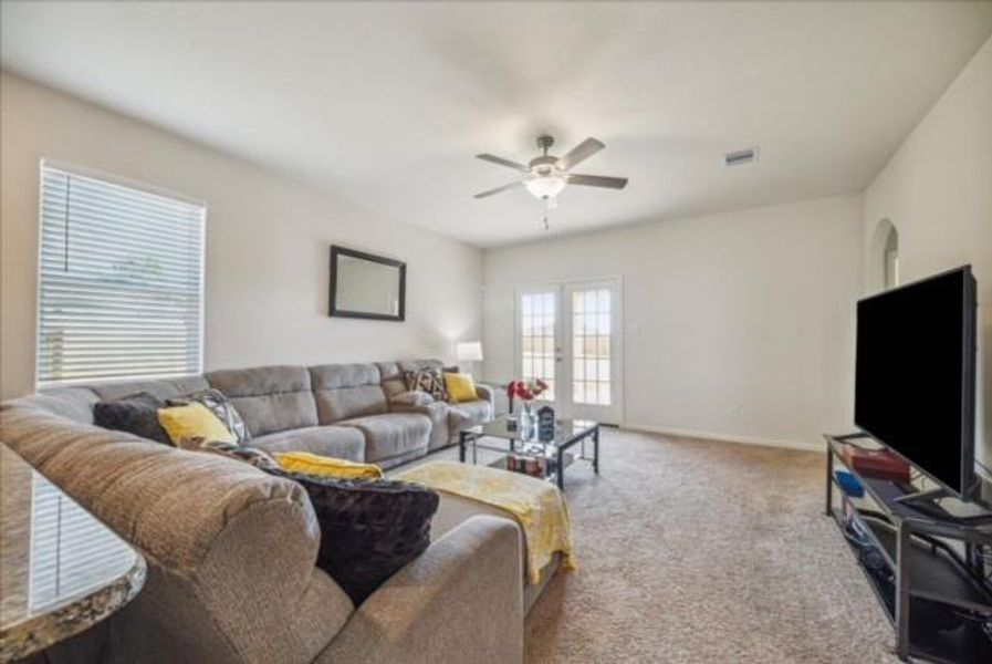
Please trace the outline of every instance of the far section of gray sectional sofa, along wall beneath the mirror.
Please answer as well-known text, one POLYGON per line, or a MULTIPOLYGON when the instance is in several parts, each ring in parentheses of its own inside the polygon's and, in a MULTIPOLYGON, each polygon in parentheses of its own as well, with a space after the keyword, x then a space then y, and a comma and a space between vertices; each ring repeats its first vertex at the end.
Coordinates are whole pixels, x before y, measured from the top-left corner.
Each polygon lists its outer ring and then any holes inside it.
MULTIPOLYGON (((252 445, 267 452, 305 450, 389 468, 458 442, 458 430, 492 417, 492 392, 478 388, 473 402, 434 402, 410 394, 404 371, 440 369, 437 360, 262 366, 209 372, 191 378, 217 387, 231 398, 252 434, 252 445)), ((191 392, 192 385, 177 385, 191 392)), ((113 387, 113 395, 144 390, 142 383, 113 387)), ((92 390, 107 398, 107 386, 92 390)), ((156 382, 149 390, 170 396, 156 382)))

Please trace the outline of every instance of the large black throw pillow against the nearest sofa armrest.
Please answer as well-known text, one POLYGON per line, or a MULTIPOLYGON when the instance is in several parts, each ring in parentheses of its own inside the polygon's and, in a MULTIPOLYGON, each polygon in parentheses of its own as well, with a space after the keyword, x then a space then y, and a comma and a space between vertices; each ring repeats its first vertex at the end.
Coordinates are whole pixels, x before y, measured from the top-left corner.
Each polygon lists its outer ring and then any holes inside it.
POLYGON ((321 525, 317 567, 357 606, 430 544, 438 495, 395 479, 340 479, 280 473, 310 494, 321 525))

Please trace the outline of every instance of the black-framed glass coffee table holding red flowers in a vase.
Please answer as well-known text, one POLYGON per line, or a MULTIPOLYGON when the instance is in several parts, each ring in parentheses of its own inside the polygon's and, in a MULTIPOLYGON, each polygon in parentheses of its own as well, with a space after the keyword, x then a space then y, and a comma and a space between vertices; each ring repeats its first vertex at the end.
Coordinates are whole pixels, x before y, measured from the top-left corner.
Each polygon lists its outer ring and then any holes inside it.
POLYGON ((490 466, 543 477, 556 483, 562 490, 565 488, 565 468, 577 459, 592 463, 593 471, 598 475, 599 424, 588 419, 556 419, 554 424, 554 437, 546 440, 540 438, 536 424, 524 425, 512 415, 463 428, 458 434, 458 458, 464 463, 469 448, 473 464, 478 463, 479 449, 504 453, 490 466), (587 443, 593 448, 592 456, 586 456, 587 443), (573 452, 571 448, 576 445, 578 448, 573 452))

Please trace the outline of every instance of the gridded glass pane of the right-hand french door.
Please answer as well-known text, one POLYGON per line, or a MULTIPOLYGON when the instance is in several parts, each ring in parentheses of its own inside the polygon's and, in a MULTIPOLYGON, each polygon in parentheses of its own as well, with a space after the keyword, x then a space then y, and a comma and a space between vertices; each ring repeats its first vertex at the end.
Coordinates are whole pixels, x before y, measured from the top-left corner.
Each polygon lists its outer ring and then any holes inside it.
POLYGON ((609 289, 572 292, 572 401, 609 406, 613 318, 609 289))

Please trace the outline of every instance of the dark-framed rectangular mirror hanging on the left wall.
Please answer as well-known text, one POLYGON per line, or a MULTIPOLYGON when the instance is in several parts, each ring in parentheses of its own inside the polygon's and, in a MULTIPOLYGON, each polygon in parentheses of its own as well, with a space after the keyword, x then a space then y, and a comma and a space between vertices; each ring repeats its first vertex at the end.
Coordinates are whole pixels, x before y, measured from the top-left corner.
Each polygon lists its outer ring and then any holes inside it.
POLYGON ((331 315, 401 321, 407 266, 365 251, 331 247, 331 315))

